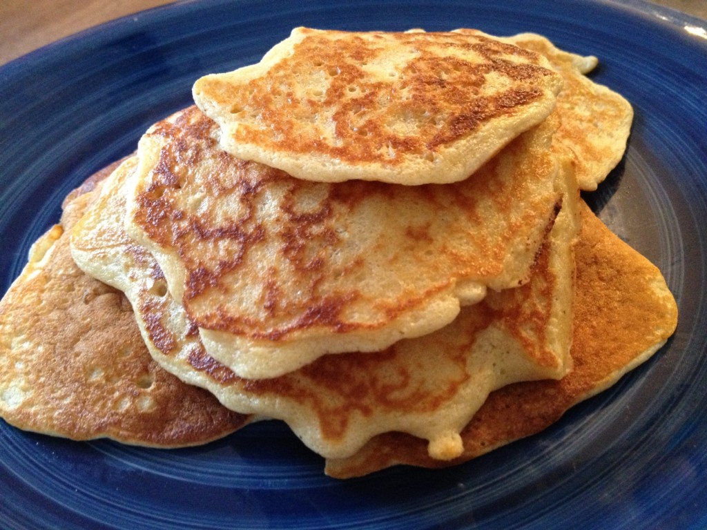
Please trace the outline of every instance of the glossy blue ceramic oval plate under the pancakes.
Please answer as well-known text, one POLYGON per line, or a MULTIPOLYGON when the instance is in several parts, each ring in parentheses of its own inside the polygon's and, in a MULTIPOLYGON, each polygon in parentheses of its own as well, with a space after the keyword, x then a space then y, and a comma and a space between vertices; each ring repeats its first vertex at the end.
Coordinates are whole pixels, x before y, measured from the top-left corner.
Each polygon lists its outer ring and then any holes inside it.
POLYGON ((202 74, 257 61, 296 25, 542 33, 595 54, 636 119, 588 197, 660 266, 677 334, 540 435, 444 471, 351 481, 282 425, 206 447, 76 443, 0 420, 4 529, 707 527, 707 23, 641 1, 204 1, 89 30, 0 69, 0 287, 64 195, 190 102, 202 74))

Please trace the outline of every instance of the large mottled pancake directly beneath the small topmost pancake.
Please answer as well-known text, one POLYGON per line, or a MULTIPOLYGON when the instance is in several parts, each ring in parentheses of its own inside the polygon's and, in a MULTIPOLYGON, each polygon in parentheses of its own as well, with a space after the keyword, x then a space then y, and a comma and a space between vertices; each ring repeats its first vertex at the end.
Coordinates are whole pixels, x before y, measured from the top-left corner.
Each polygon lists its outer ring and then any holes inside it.
POLYGON ((190 107, 142 137, 126 226, 209 355, 276 377, 428 334, 487 287, 527 281, 561 201, 553 130, 455 184, 328 184, 233 158, 190 107))

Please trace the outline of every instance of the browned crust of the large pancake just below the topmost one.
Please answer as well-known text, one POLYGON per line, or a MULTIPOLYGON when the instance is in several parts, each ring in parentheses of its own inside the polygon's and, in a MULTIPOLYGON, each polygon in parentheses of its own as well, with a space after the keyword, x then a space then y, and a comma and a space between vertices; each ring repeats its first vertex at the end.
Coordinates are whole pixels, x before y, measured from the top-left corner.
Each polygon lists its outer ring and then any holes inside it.
MULTIPOLYGON (((238 160, 218 147, 213 129, 214 122, 196 107, 180 113, 173 121, 164 120, 153 126, 146 136, 165 143, 151 171, 150 184, 136 194, 132 211, 132 220, 144 232, 148 246, 172 253, 173 259, 184 266, 184 293, 180 301, 192 321, 204 329, 255 341, 286 341, 312 328, 334 334, 380 329, 440 293, 449 292, 460 278, 480 283, 493 281, 503 273, 506 247, 515 234, 527 233, 524 228, 527 225, 547 228, 556 215, 559 193, 547 189, 537 192, 552 174, 554 158, 549 153, 527 160, 518 169, 522 178, 515 177, 513 182, 501 176, 501 163, 494 159, 467 181, 445 186, 395 187, 364 181, 323 184, 294 179, 271 167, 238 160), (197 179, 192 170, 199 163, 208 167, 208 172, 197 179), (544 182, 540 182, 542 179, 544 182), (267 204, 264 196, 274 189, 284 195, 276 213, 280 216, 276 226, 258 213, 259 206, 267 204), (180 201, 186 196, 199 192, 214 201, 223 201, 219 198, 228 196, 233 204, 218 202, 223 218, 210 210, 194 213, 182 206, 180 201), (523 196, 531 194, 538 195, 534 201, 528 200, 527 210, 509 221, 503 230, 465 228, 483 223, 484 199, 489 199, 490 208, 509 213, 523 196), (301 211, 300 205, 311 196, 317 197, 316 206, 301 211), (408 274, 415 269, 416 274, 424 271, 426 275, 420 273, 414 278, 414 281, 419 279, 414 288, 399 287, 399 292, 387 293, 386 297, 376 292, 375 300, 369 300, 371 295, 362 290, 360 282, 348 279, 370 275, 365 255, 351 252, 352 259, 346 263, 335 259, 337 249, 356 245, 337 232, 340 225, 346 225, 346 219, 337 216, 346 213, 354 216, 358 205, 370 197, 380 204, 405 200, 410 208, 419 204, 426 206, 426 211, 454 211, 456 216, 453 225, 457 241, 440 245, 434 256, 421 253, 414 262, 404 259, 411 255, 416 242, 443 237, 432 233, 426 225, 407 229, 405 235, 411 239, 402 242, 407 245, 404 248, 384 235, 375 240, 375 245, 366 247, 367 252, 390 256, 390 266, 408 274), (277 258, 272 263, 254 266, 247 261, 254 252, 252 249, 266 246, 277 258), (197 249, 204 252, 196 252, 197 249), (204 258, 207 251, 208 259, 204 258), (411 263, 419 266, 413 267, 411 263), (253 285, 258 285, 259 298, 253 300, 252 307, 238 307, 236 311, 229 305, 230 300, 238 298, 238 293, 230 291, 231 285, 243 282, 243 278, 250 278, 253 285), (296 298, 291 295, 293 291, 298 293, 296 298), (365 307, 366 319, 352 316, 352 307, 365 307)), ((527 147, 524 142, 525 139, 513 141, 505 152, 520 158, 527 147)), ((528 242, 537 244, 539 241, 528 242)), ((520 283, 526 279, 520 278, 520 283)))

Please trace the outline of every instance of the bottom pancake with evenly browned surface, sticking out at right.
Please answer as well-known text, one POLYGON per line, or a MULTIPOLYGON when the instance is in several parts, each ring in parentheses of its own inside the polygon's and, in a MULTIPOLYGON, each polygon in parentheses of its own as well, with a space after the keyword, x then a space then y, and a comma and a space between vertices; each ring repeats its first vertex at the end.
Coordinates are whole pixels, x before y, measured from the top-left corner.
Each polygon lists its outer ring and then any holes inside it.
POLYGON ((327 474, 351 478, 398 464, 435 468, 479 457, 549 427, 665 344, 677 326, 677 305, 662 274, 588 206, 580 213, 573 370, 559 381, 511 384, 490 394, 464 428, 464 452, 457 459, 431 459, 423 440, 391 432, 373 438, 353 457, 327 460, 327 474))

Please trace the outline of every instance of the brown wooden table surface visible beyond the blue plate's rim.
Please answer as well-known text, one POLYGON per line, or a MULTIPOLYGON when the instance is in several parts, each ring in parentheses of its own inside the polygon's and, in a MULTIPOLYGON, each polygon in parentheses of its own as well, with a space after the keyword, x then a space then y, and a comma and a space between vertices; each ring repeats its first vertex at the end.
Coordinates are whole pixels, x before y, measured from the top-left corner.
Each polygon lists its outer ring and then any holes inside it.
MULTIPOLYGON (((173 0, 0 0, 0 64, 67 35, 173 0)), ((655 0, 707 19, 706 0, 655 0)))

